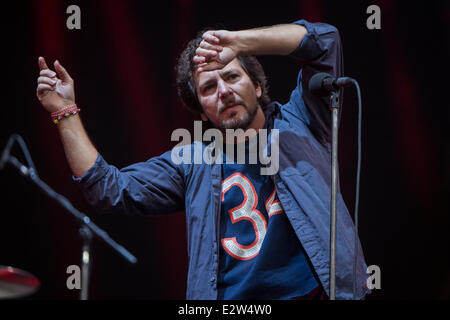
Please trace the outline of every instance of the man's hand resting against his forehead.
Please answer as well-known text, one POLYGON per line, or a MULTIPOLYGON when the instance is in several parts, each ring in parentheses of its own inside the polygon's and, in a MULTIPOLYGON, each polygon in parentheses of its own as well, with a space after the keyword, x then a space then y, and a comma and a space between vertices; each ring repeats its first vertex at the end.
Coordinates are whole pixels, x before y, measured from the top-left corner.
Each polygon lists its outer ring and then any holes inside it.
POLYGON ((195 51, 197 72, 222 69, 239 55, 236 33, 227 30, 207 31, 195 51))

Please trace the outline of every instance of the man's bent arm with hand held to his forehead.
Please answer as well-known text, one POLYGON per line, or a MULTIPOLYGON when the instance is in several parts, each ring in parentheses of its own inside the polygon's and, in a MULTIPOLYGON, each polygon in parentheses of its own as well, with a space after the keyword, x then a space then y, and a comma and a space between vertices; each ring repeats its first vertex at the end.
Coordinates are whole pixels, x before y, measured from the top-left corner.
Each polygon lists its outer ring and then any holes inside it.
POLYGON ((341 39, 334 26, 298 20, 250 30, 207 31, 193 60, 202 72, 221 69, 238 55, 289 55, 296 59, 301 71, 284 110, 300 118, 321 142, 331 141, 329 99, 314 96, 308 82, 317 72, 343 76, 341 39))

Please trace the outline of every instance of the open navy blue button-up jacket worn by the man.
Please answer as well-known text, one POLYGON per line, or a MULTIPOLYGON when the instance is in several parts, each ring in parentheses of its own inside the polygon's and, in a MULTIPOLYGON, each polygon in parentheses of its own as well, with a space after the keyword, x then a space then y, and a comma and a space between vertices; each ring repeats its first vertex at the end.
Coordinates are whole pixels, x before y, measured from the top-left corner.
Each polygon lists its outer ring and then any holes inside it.
MULTIPOLYGON (((331 25, 305 20, 295 23, 308 30, 291 54, 301 66, 297 86, 285 105, 271 103, 264 111, 266 127, 279 130, 279 171, 271 178, 282 207, 329 294, 331 113, 327 99, 311 95, 307 83, 316 72, 342 76, 341 40, 331 25)), ((189 147, 204 150, 211 145, 194 142, 189 147)), ((175 164, 168 151, 119 170, 99 154, 81 178, 73 179, 79 182, 87 201, 103 210, 144 215, 185 210, 189 256, 186 297, 217 299, 221 164, 175 164)), ((339 193, 337 299, 352 298, 353 253, 354 225, 339 193)), ((357 298, 369 292, 366 268, 359 247, 357 298)))

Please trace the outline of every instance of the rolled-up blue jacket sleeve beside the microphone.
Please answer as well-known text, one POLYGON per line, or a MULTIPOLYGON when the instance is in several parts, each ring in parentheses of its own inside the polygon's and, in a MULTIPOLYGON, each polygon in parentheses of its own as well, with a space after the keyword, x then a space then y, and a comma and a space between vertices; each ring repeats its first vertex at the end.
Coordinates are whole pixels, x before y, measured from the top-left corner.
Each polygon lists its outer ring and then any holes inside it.
MULTIPOLYGON (((304 121, 310 130, 322 141, 331 142, 331 111, 329 97, 316 97, 308 89, 308 82, 318 72, 342 77, 344 73, 341 38, 338 30, 326 23, 295 21, 304 26, 308 33, 297 49, 289 56, 297 60, 301 70, 297 87, 292 91, 287 105, 289 111, 304 121)), ((339 115, 342 112, 343 89, 340 91, 339 115)))

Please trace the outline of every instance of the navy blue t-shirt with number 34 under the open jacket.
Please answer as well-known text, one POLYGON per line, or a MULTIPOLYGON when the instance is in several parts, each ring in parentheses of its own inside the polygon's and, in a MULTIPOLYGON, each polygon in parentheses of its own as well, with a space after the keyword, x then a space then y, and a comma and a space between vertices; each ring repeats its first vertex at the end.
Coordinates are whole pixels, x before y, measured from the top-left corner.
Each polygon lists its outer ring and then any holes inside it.
POLYGON ((306 295, 319 285, 316 276, 274 183, 260 174, 259 163, 249 163, 248 141, 245 150, 245 163, 236 163, 236 151, 234 163, 227 163, 224 153, 218 298, 306 295))

